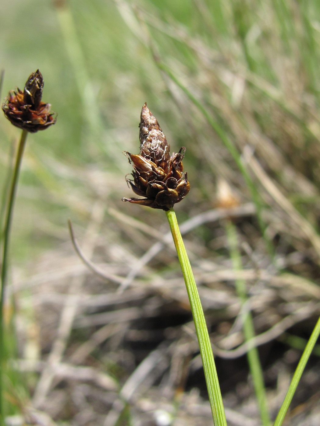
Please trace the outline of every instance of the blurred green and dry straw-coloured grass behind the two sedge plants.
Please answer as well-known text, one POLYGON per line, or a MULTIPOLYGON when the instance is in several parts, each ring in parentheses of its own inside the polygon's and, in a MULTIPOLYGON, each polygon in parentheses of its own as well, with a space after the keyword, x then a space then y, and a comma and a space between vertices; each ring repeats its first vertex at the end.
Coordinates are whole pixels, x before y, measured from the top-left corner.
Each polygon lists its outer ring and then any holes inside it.
MULTIPOLYGON (((131 196, 122 151, 138 152, 145 101, 171 150, 186 147, 192 189, 175 210, 180 224, 191 219, 186 246, 228 424, 260 424, 241 346, 247 309, 274 419, 320 313, 319 2, 15 0, 0 28, 2 99, 39 68, 58 112, 29 135, 17 194, 6 314, 20 375, 6 379, 8 424, 212 424, 166 216, 121 201, 131 196), (76 255, 67 219, 99 271, 76 255)), ((3 188, 18 137, 3 116, 3 188)), ((291 425, 319 424, 319 354, 291 425)))

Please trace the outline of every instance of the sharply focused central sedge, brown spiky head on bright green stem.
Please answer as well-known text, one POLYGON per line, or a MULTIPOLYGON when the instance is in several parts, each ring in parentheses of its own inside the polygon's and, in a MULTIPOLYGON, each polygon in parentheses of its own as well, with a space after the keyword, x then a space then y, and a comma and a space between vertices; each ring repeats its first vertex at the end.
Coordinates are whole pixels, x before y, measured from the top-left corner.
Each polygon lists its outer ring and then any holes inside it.
POLYGON ((140 153, 131 154, 125 151, 125 155, 134 168, 132 171, 133 179, 126 178, 126 180, 134 193, 144 198, 123 198, 122 200, 166 212, 189 296, 213 421, 215 426, 226 426, 227 421, 207 324, 198 288, 173 210, 174 204, 181 201, 190 190, 188 176, 187 173, 183 172, 182 165, 186 149, 182 147, 178 153, 170 155, 170 146, 166 136, 146 104, 143 105, 141 111, 139 127, 140 153))

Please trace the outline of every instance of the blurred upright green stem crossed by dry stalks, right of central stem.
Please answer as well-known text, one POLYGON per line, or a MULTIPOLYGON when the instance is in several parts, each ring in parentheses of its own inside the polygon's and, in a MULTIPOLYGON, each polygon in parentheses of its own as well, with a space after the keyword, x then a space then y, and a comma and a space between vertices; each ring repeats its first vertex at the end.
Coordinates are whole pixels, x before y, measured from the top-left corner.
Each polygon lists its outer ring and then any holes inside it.
MULTIPOLYGON (((233 269, 235 271, 240 271, 242 269, 241 265, 241 256, 238 249, 238 238, 237 238, 237 230, 235 225, 230 220, 226 222, 226 233, 228 244, 230 247, 230 257, 233 264, 233 269)), ((247 301, 247 289, 246 284, 243 279, 236 279, 236 293, 241 301, 241 305, 247 301)), ((253 339, 255 337, 254 327, 253 327, 253 319, 251 312, 244 312, 243 318, 243 334, 244 340, 247 342, 248 340, 253 339)), ((250 373, 253 381, 254 390, 256 392, 256 398, 258 401, 260 417, 262 420, 262 424, 264 426, 268 426, 271 424, 271 420, 268 413, 267 408, 267 398, 265 393, 265 383, 263 380, 263 371, 261 367, 261 363, 259 360, 259 353, 257 348, 249 349, 247 352, 247 360, 250 368, 250 373)))

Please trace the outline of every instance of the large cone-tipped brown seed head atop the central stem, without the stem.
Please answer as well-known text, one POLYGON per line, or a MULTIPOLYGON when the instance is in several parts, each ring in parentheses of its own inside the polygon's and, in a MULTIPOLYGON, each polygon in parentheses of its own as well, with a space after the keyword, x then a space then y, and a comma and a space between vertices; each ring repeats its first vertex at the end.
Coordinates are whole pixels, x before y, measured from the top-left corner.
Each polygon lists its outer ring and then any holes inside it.
POLYGON ((139 127, 140 154, 124 152, 134 167, 133 181, 128 178, 126 180, 134 193, 145 198, 123 198, 122 201, 170 210, 190 190, 182 165, 186 148, 182 147, 177 154, 170 156, 166 136, 146 104, 141 111, 139 127))

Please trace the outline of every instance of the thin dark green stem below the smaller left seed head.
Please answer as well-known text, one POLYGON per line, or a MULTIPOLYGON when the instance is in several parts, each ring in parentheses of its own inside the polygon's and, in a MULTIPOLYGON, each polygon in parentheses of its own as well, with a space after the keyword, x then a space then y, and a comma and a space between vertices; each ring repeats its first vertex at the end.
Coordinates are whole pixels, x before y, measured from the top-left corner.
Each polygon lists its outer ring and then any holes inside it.
POLYGON ((1 267, 1 295, 0 295, 0 425, 4 424, 3 414, 3 367, 5 366, 5 350, 4 350, 4 318, 3 318, 3 305, 4 296, 7 283, 8 273, 8 253, 9 253, 9 240, 10 240, 10 229, 12 224, 13 207, 15 204, 15 194, 17 191, 17 183, 19 178, 20 164, 23 156, 23 150, 26 144, 26 137, 28 132, 22 131, 20 143, 18 147, 15 169, 13 172, 10 192, 8 209, 6 214, 6 220, 3 230, 3 254, 2 254, 2 267, 1 267))

